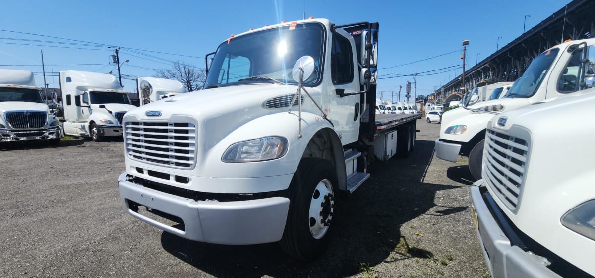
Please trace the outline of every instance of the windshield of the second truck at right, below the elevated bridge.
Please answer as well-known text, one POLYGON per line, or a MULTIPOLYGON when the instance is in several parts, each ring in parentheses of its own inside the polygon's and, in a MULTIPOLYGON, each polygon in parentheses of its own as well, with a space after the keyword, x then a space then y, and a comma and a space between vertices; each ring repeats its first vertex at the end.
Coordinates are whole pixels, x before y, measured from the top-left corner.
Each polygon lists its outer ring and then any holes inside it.
POLYGON ((537 92, 537 89, 543 82, 547 71, 558 56, 559 48, 550 49, 537 56, 522 74, 521 78, 515 82, 511 89, 506 93, 505 98, 529 98, 537 92))

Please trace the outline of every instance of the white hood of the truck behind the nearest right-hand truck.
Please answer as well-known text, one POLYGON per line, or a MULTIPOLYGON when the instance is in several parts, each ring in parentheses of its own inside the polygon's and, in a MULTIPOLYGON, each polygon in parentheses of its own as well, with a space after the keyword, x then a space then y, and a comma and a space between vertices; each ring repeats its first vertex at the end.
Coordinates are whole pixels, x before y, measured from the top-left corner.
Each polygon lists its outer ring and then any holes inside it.
MULTIPOLYGON (((528 104, 531 104, 531 102, 526 98, 502 98, 480 102, 478 104, 471 105, 469 108, 502 113, 504 111, 514 110, 515 108, 519 108, 528 104)), ((446 111, 442 114, 440 138, 456 142, 469 142, 469 140, 471 140, 478 132, 486 129, 488 121, 490 121, 490 119, 493 117, 494 114, 470 111, 463 107, 446 111), (465 133, 444 133, 448 127, 461 124, 467 126, 465 133)))

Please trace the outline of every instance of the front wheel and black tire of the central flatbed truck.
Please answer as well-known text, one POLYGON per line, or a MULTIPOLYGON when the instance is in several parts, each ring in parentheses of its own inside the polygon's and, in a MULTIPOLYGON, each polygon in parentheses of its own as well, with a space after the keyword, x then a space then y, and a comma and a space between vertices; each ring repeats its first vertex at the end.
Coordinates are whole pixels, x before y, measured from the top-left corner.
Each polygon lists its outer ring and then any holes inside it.
POLYGON ((336 213, 337 174, 328 160, 304 158, 289 185, 289 213, 281 248, 298 260, 311 261, 328 244, 336 213))

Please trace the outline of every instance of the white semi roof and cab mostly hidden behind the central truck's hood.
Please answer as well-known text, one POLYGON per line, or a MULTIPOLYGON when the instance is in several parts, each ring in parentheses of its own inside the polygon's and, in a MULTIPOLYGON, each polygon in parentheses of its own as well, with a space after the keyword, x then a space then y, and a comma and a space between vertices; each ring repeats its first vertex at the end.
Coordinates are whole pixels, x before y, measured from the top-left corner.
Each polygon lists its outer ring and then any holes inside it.
POLYGON ((188 92, 186 87, 177 80, 156 77, 137 78, 136 90, 140 105, 188 92))

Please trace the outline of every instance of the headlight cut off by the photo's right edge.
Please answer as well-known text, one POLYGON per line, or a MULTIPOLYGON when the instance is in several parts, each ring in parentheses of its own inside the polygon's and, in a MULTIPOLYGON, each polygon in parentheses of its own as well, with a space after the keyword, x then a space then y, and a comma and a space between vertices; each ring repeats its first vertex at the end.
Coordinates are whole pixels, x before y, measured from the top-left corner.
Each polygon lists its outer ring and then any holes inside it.
POLYGON ((560 221, 564 227, 595 240, 595 199, 572 208, 560 221))

